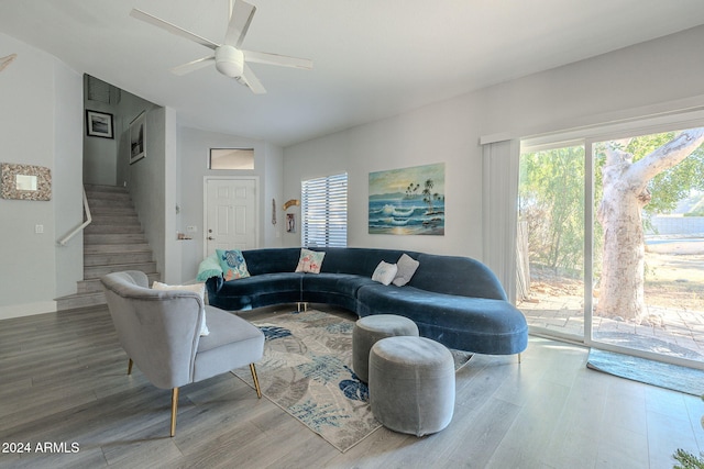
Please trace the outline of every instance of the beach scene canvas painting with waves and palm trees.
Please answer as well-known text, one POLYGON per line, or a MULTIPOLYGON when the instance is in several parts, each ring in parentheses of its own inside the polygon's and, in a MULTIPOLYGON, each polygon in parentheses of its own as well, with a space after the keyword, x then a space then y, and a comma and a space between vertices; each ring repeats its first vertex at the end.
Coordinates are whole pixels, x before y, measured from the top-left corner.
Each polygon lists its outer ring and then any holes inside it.
POLYGON ((370 172, 369 232, 444 235, 444 163, 370 172))

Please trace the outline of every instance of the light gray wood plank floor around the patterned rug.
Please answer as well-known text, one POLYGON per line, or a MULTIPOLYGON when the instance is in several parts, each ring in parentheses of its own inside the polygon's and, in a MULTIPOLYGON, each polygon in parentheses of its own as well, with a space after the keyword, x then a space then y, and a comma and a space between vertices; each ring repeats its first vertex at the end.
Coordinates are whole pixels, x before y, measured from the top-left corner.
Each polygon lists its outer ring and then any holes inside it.
POLYGON ((678 447, 704 449, 700 399, 587 370, 586 356, 537 337, 520 365, 474 356, 448 428, 380 428, 341 454, 230 373, 182 388, 169 438, 170 392, 125 375, 105 308, 4 320, 0 449, 32 454, 0 453, 0 467, 659 469, 678 447), (44 443, 59 453, 35 453, 44 443))

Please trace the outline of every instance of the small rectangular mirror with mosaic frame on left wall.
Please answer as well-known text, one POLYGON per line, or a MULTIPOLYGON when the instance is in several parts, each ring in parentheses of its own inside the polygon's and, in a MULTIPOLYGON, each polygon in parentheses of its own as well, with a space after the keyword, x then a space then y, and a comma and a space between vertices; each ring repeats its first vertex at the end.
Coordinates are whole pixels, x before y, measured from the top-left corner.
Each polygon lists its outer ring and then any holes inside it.
POLYGON ((52 171, 44 166, 2 164, 2 198, 52 200, 52 171))

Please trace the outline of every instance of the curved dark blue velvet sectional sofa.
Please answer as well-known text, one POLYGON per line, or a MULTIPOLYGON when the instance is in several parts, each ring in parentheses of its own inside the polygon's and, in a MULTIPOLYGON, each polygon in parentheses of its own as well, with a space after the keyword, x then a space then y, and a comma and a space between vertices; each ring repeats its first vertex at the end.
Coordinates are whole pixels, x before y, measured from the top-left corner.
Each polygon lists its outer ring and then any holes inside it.
POLYGON ((207 280, 209 302, 239 311, 283 303, 327 303, 360 316, 398 314, 420 335, 450 348, 490 355, 519 354, 528 344, 526 317, 506 301, 496 276, 482 263, 454 256, 373 248, 316 248, 326 253, 320 273, 295 272, 300 248, 244 250, 251 277, 207 280), (419 261, 404 287, 372 280, 380 261, 406 253, 419 261))

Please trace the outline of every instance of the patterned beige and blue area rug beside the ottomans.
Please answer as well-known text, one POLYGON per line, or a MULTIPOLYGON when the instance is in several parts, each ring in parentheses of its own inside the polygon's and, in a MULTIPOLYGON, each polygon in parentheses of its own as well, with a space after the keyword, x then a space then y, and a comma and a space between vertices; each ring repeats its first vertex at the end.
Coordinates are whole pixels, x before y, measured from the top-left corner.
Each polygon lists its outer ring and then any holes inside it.
MULTIPOLYGON (((266 337, 256 371, 267 399, 342 453, 381 426, 352 371, 353 321, 308 310, 252 323, 266 337)), ((452 355, 458 369, 472 356, 452 355)), ((253 387, 249 367, 233 373, 253 387)))

